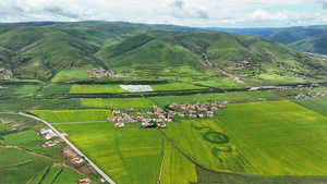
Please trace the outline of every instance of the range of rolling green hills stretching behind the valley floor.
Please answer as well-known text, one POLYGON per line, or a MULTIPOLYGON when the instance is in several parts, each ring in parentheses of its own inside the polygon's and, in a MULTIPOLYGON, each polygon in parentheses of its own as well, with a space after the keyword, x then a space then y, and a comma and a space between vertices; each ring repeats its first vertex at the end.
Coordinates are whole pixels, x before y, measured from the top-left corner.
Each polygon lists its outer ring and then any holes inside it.
POLYGON ((317 60, 283 45, 253 36, 170 25, 0 25, 0 68, 11 69, 13 76, 41 81, 63 70, 97 66, 132 76, 204 81, 241 77, 251 83, 326 73, 317 60))

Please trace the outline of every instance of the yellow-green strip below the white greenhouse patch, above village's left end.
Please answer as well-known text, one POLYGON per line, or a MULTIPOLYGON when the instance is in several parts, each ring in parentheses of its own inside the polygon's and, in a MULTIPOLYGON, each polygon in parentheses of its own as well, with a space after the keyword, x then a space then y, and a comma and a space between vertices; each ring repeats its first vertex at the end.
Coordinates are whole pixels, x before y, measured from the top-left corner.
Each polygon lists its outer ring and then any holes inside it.
POLYGON ((85 108, 141 108, 153 107, 156 103, 147 98, 108 98, 108 99, 81 99, 82 107, 85 108))

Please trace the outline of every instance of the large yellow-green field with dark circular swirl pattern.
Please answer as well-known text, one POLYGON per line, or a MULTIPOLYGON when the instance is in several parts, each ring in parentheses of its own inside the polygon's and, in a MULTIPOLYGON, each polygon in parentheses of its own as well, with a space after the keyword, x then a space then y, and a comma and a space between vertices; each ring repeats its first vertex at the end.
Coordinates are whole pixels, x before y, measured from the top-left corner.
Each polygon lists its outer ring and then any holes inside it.
POLYGON ((181 120, 162 131, 196 161, 215 170, 327 174, 325 115, 290 101, 230 105, 225 111, 219 121, 181 120))

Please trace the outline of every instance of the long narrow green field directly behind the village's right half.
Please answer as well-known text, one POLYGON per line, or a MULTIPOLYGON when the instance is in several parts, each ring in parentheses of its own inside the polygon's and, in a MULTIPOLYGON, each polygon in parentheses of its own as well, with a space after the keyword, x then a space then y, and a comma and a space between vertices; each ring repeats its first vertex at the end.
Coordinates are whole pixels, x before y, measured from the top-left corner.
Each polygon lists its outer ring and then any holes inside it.
POLYGON ((149 97, 154 102, 166 106, 172 102, 177 103, 191 103, 196 101, 233 101, 241 100, 246 101, 256 98, 272 97, 266 91, 237 91, 237 93, 221 93, 221 94, 202 94, 202 95, 189 95, 189 96, 162 96, 162 97, 149 97))

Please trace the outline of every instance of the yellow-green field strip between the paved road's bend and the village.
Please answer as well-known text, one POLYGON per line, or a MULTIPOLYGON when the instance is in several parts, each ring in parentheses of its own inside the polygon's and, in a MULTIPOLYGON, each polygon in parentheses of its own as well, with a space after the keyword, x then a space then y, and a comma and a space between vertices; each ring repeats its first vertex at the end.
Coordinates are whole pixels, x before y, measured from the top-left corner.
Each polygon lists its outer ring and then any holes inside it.
POLYGON ((106 121, 112 116, 111 110, 86 109, 86 110, 33 110, 31 113, 48 121, 49 123, 84 122, 84 121, 106 121))

